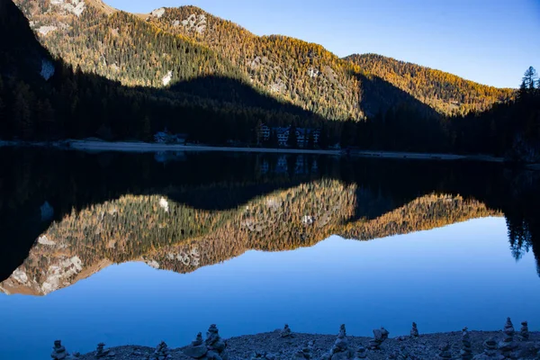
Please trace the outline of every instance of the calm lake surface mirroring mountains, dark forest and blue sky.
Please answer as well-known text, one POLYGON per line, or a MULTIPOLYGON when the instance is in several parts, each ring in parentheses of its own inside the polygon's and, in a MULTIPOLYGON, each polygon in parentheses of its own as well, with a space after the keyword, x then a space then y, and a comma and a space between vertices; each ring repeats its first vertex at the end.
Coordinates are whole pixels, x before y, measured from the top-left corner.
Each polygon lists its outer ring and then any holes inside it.
POLYGON ((498 164, 0 149, 0 358, 217 323, 540 329, 538 174, 498 164))

